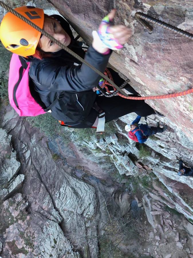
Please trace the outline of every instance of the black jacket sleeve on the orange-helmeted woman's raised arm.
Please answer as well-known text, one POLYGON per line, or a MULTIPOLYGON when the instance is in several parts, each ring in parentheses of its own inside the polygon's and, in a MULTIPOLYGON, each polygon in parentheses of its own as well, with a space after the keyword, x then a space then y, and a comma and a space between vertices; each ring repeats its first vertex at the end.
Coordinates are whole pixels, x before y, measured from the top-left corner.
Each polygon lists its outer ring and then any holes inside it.
MULTIPOLYGON (((84 60, 103 73, 110 54, 100 54, 90 46, 84 60)), ((46 63, 41 63, 37 67, 36 78, 38 79, 41 90, 80 92, 95 87, 99 83, 101 76, 86 64, 82 64, 81 66, 61 66, 57 64, 55 58, 50 58, 46 63)))

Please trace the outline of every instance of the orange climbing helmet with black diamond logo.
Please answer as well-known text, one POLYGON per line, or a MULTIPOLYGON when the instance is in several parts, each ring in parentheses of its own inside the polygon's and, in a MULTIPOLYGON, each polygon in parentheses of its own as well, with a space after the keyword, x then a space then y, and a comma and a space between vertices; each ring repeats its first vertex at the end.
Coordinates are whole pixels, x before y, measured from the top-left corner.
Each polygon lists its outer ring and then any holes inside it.
MULTIPOLYGON (((44 10, 34 6, 22 6, 15 11, 31 20, 41 29, 44 25, 44 10)), ((35 54, 40 40, 41 32, 28 25, 12 13, 6 13, 0 26, 0 39, 2 44, 12 53, 19 56, 35 54)))

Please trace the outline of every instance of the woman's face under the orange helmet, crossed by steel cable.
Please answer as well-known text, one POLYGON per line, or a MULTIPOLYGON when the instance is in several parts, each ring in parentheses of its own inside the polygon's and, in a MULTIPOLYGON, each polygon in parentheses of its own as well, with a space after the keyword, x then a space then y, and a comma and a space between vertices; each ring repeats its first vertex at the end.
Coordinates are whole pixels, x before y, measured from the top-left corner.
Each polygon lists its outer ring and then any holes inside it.
MULTIPOLYGON (((46 17, 44 19, 43 30, 48 32, 50 35, 52 35, 55 39, 60 41, 65 46, 68 46, 70 44, 70 36, 65 32, 65 30, 63 30, 60 23, 55 19, 50 19, 46 17)), ((60 49, 62 49, 60 46, 58 46, 56 43, 54 43, 52 40, 50 40, 44 35, 42 35, 42 37, 40 38, 38 46, 44 52, 57 52, 60 49)))

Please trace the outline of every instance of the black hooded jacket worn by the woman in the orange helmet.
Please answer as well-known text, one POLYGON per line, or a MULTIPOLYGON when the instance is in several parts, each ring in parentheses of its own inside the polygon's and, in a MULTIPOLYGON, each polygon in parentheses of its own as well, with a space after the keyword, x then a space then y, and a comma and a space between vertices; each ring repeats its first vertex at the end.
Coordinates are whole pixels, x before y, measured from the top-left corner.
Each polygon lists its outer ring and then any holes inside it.
MULTIPOLYGON (((78 43, 74 40, 68 22, 59 15, 52 15, 52 17, 60 21, 61 26, 70 36, 71 43, 68 48, 103 73, 110 54, 100 54, 92 46, 88 48, 85 54, 80 47, 77 47, 78 43)), ((54 118, 63 120, 69 125, 78 124, 81 121, 85 122, 88 119, 96 99, 96 92, 92 91, 92 88, 101 79, 100 75, 96 74, 88 66, 82 64, 62 49, 52 53, 49 58, 42 60, 33 58, 29 75, 34 82, 35 90, 39 93, 46 107, 64 92, 63 104, 60 105, 57 102, 52 108, 54 118), (63 107, 66 113, 62 112, 63 107), (75 116, 71 116, 70 114, 72 113, 75 116)), ((93 119, 95 120, 95 118, 93 119)))

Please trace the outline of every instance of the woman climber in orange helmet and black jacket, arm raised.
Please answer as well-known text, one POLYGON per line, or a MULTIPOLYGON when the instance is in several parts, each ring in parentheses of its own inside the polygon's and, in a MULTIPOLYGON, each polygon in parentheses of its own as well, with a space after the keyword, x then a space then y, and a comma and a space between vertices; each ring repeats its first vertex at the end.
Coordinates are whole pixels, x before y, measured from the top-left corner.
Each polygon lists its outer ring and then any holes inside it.
MULTIPOLYGON (((98 33, 93 33, 92 45, 85 54, 74 39, 69 23, 61 16, 48 16, 42 9, 33 6, 18 7, 15 10, 31 19, 96 69, 102 73, 105 71, 112 50, 105 45, 103 34, 99 30, 98 33)), ((113 21, 115 13, 116 10, 113 9, 105 18, 113 21)), ((123 25, 109 26, 109 33, 113 35, 112 42, 117 43, 120 48, 132 35, 131 29, 123 25)), ((149 116, 156 112, 143 100, 97 95, 96 85, 99 84, 100 75, 11 13, 7 13, 2 20, 0 38, 5 48, 30 62, 29 75, 41 103, 49 107, 58 99, 51 108, 52 116, 68 126, 96 127, 101 118, 107 123, 131 112, 139 116, 149 116)), ((117 85, 124 82, 112 69, 109 71, 117 85)), ((137 94, 130 85, 126 89, 137 94)), ((159 112, 156 114, 162 116, 159 112)))

